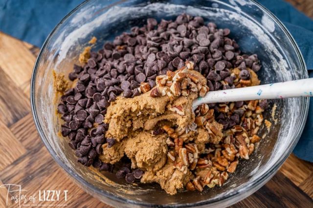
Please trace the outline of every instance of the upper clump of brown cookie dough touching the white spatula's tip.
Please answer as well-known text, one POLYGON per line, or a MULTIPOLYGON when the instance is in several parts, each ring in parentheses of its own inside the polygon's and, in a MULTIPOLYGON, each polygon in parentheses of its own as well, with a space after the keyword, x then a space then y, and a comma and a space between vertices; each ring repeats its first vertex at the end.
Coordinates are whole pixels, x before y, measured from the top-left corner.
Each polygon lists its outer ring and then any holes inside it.
MULTIPOLYGON (((200 77, 199 82, 206 85, 206 79, 199 72, 192 70, 189 73, 200 77)), ((150 91, 131 99, 118 97, 107 109, 104 122, 109 124, 109 129, 106 132, 106 137, 120 141, 129 132, 139 128, 151 130, 162 120, 170 121, 180 128, 185 128, 194 120, 192 102, 197 97, 197 93, 190 93, 188 97, 180 96, 171 101, 168 96, 153 98, 150 96, 150 91), (171 108, 179 105, 183 109, 181 115, 171 110, 171 108)))

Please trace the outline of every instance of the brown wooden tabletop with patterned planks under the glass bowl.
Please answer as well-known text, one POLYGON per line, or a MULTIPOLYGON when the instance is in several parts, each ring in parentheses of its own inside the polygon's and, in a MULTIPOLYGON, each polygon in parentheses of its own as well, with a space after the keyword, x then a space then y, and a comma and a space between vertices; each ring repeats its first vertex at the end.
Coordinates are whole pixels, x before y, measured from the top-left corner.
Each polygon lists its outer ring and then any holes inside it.
MULTIPOLYGON (((313 17, 312 0, 289 0, 313 17)), ((18 184, 27 194, 39 190, 68 190, 69 207, 109 207, 77 187, 54 162, 35 128, 29 102, 29 83, 39 49, 0 32, 0 186, 18 184)), ((313 164, 288 158, 261 189, 232 207, 313 207, 313 164)), ((0 188, 0 208, 7 188, 0 188)), ((37 196, 38 197, 38 196, 37 196)), ((37 199, 38 202, 38 199, 37 199)), ((8 207, 18 207, 8 200, 8 207)))

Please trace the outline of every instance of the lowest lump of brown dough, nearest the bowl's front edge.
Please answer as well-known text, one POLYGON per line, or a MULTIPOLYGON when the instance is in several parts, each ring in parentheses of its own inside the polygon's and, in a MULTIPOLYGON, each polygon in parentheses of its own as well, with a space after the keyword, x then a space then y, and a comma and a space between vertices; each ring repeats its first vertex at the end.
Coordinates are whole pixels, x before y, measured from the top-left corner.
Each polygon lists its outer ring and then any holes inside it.
POLYGON ((167 163, 158 171, 147 171, 141 178, 141 183, 158 183, 171 195, 177 193, 177 189, 183 188, 194 176, 187 170, 187 173, 181 172, 175 168, 172 163, 167 163))

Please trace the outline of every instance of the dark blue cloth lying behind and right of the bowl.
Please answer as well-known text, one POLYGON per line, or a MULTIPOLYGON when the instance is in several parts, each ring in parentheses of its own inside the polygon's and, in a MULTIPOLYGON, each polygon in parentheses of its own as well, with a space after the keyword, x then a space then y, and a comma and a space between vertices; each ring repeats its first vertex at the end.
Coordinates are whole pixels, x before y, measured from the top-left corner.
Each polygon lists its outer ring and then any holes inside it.
MULTIPOLYGON (((41 47, 54 26, 83 0, 0 0, 0 31, 41 47)), ((313 21, 283 0, 259 0, 283 21, 313 69, 313 21)), ((313 77, 313 70, 309 71, 313 77)), ((313 99, 296 156, 313 162, 313 99)))

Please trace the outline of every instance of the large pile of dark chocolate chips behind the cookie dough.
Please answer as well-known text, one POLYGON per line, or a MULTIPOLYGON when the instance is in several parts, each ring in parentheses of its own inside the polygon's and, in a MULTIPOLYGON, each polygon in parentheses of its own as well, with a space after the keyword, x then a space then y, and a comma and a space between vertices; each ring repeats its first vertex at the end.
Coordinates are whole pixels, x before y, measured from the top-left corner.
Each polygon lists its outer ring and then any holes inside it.
MULTIPOLYGON (((110 147, 115 143, 113 138, 105 138, 106 108, 121 93, 127 98, 139 95, 142 82, 155 86, 157 75, 177 70, 187 60, 207 78, 211 91, 235 87, 234 77, 230 76, 234 67, 239 67, 242 79, 249 79, 246 68, 257 72, 261 67, 257 56, 241 55, 239 45, 228 38, 229 34, 229 29, 218 29, 215 23, 204 24, 201 17, 182 14, 175 21, 159 23, 149 18, 146 25, 133 27, 131 33, 123 33, 98 52, 91 52, 85 65, 74 65, 68 78, 77 79, 76 86, 61 97, 58 112, 65 121, 61 133, 70 139, 69 146, 76 150, 78 162, 113 171, 111 164, 98 159, 103 144, 110 147)), ((142 173, 140 169, 131 172, 126 166, 116 176, 133 182, 142 173)))

